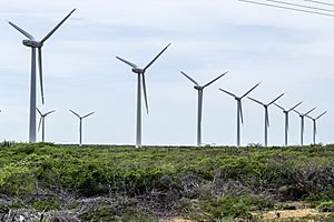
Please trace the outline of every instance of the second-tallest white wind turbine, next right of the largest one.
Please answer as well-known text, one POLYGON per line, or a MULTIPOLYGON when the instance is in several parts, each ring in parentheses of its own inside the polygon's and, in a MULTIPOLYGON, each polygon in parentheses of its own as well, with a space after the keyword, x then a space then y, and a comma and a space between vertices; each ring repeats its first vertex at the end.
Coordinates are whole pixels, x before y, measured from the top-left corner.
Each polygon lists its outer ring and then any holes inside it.
POLYGON ((147 101, 147 93, 146 93, 146 82, 145 82, 145 72, 147 69, 167 50, 167 48, 170 46, 167 44, 160 53, 158 53, 145 68, 139 68, 137 64, 129 62, 120 57, 116 57, 118 60, 122 61, 124 63, 130 65, 132 69, 131 71, 136 74, 138 74, 138 81, 137 81, 137 129, 136 129, 136 148, 141 147, 141 78, 143 78, 143 91, 144 91, 144 99, 145 99, 145 105, 146 111, 148 114, 148 101, 147 101))

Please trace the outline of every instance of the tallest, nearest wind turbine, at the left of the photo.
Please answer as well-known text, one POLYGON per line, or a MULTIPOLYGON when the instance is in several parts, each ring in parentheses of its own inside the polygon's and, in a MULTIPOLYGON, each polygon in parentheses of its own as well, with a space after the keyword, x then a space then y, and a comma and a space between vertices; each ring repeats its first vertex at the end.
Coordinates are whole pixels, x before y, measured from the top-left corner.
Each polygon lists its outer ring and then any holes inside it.
POLYGON ((22 43, 31 48, 31 79, 30 79, 30 114, 29 114, 29 142, 36 142, 36 49, 38 50, 38 65, 42 104, 45 103, 43 81, 42 81, 42 47, 43 43, 53 34, 53 32, 71 16, 73 9, 42 40, 36 40, 29 32, 24 31, 17 24, 9 22, 16 30, 28 38, 22 43))

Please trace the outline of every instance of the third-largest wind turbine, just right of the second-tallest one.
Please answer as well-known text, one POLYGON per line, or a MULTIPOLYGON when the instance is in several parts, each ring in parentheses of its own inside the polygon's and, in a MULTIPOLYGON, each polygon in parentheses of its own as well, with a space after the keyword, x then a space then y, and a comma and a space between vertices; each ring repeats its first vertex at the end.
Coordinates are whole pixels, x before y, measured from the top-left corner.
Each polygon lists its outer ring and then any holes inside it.
POLYGON ((200 85, 198 84, 193 78, 190 78, 188 74, 185 72, 180 71, 183 75, 185 75, 188 80, 190 80, 195 85, 194 89, 198 91, 198 109, 197 109, 197 147, 202 145, 202 109, 203 109, 203 90, 220 79, 223 75, 225 75, 227 72, 224 72, 216 79, 209 81, 208 83, 200 85))

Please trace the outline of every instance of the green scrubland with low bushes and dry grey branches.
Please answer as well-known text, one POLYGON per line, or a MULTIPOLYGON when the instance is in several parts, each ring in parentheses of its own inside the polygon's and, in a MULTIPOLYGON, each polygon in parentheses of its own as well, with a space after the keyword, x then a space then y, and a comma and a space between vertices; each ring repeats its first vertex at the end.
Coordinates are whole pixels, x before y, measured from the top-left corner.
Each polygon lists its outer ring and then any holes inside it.
POLYGON ((266 221, 304 208, 317 214, 299 221, 334 221, 334 145, 0 148, 1 220, 266 221))

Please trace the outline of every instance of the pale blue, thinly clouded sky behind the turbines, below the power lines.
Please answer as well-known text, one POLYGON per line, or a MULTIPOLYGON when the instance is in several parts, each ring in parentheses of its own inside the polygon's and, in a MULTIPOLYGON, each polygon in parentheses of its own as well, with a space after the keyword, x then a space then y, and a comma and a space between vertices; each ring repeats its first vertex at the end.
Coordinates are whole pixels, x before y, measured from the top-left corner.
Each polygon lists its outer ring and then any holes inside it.
MULTIPOLYGON (((237 0, 1 1, 1 140, 28 140, 30 49, 7 20, 40 39, 73 8, 77 11, 43 47, 46 105, 38 93, 38 107, 57 110, 46 119, 48 141, 78 141, 78 120, 68 111, 73 109, 96 112, 84 121, 85 143, 134 144, 137 79, 115 56, 144 65, 171 42, 147 72, 150 114, 143 115, 144 144, 196 142, 197 92, 179 70, 198 82, 228 71, 205 89, 204 143, 236 143, 236 103, 218 88, 240 94, 259 81, 252 93, 258 100, 286 92, 279 100, 286 108, 304 101, 302 112, 328 110, 318 121, 317 140, 333 142, 334 18, 237 0)), ((242 143, 263 143, 263 108, 249 100, 243 104, 242 143)), ((268 143, 281 145, 283 113, 272 107, 269 114, 268 143)), ((294 113, 289 141, 299 142, 294 113)), ((308 120, 304 141, 312 141, 308 120)))

